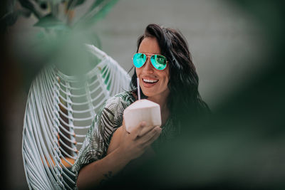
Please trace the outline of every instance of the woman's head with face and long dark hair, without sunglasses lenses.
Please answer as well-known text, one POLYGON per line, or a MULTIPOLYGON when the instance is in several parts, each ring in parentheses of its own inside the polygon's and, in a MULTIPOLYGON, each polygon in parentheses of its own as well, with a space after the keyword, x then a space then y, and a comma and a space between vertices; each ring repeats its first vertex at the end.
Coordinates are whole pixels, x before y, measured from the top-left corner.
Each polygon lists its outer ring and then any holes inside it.
MULTIPOLYGON (((147 58, 138 68, 133 58, 135 73, 130 84, 133 90, 137 88, 138 77, 142 84, 142 97, 159 103, 162 109, 167 108, 170 116, 177 122, 181 122, 185 117, 209 112, 199 95, 199 78, 182 33, 173 28, 150 24, 138 38, 137 52, 161 55, 166 59, 166 67, 156 68, 150 56, 150 59, 147 58), (157 83, 147 83, 150 82, 147 79, 157 80, 157 83)), ((162 110, 162 118, 163 116, 162 110)))

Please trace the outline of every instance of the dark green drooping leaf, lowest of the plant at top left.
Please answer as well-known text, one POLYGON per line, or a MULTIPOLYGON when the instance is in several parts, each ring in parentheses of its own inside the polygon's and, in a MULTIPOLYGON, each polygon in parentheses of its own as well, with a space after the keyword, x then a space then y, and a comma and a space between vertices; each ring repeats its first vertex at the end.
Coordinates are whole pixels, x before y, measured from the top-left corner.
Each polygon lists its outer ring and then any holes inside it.
POLYGON ((70 27, 67 26, 66 23, 63 23, 63 21, 56 19, 56 17, 54 17, 52 14, 48 14, 46 16, 43 16, 41 19, 38 19, 38 22, 35 23, 33 26, 38 26, 42 28, 53 28, 56 30, 70 29, 70 27))

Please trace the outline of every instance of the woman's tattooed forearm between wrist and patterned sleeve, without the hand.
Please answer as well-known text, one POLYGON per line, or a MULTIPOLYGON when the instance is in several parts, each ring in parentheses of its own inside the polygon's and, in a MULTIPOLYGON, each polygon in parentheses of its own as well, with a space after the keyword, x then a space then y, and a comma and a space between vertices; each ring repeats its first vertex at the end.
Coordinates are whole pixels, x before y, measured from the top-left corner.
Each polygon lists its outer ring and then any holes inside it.
POLYGON ((127 159, 120 152, 120 149, 115 149, 103 159, 88 164, 81 169, 77 179, 78 189, 87 189, 100 185, 103 181, 118 174, 128 162, 130 162, 130 159, 127 159))

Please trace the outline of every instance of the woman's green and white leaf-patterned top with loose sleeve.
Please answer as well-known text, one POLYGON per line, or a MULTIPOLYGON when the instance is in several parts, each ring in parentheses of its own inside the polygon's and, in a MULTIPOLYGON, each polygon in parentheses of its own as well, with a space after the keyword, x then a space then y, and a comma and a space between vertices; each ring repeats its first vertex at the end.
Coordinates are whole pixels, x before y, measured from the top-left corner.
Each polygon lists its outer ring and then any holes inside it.
MULTIPOLYGON (((98 114, 95 115, 76 162, 71 169, 75 172, 76 179, 83 166, 106 156, 113 133, 123 123, 123 112, 133 102, 135 102, 135 97, 131 92, 120 93, 107 100, 98 114)), ((165 125, 162 126, 160 137, 152 143, 152 148, 156 151, 162 142, 169 141, 178 132, 178 127, 173 125, 172 117, 169 117, 165 125)))

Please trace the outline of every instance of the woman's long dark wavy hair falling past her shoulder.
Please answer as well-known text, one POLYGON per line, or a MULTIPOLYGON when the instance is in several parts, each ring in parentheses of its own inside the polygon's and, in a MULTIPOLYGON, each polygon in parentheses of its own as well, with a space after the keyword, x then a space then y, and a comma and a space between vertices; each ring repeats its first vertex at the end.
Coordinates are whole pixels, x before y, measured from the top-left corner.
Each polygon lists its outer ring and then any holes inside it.
MULTIPOLYGON (((202 100, 198 91, 199 78, 188 48, 185 37, 173 28, 165 28, 157 24, 149 24, 145 33, 138 38, 137 52, 144 38, 155 37, 160 51, 168 60, 170 79, 167 84, 170 94, 167 97, 167 107, 170 114, 177 117, 196 115, 200 112, 209 112, 209 107, 202 100)), ((137 88, 137 74, 134 72, 130 88, 137 88)), ((142 90, 141 90, 142 91, 142 90)), ((142 93, 142 92, 141 92, 142 93)), ((143 93, 142 97, 145 97, 143 93)))

